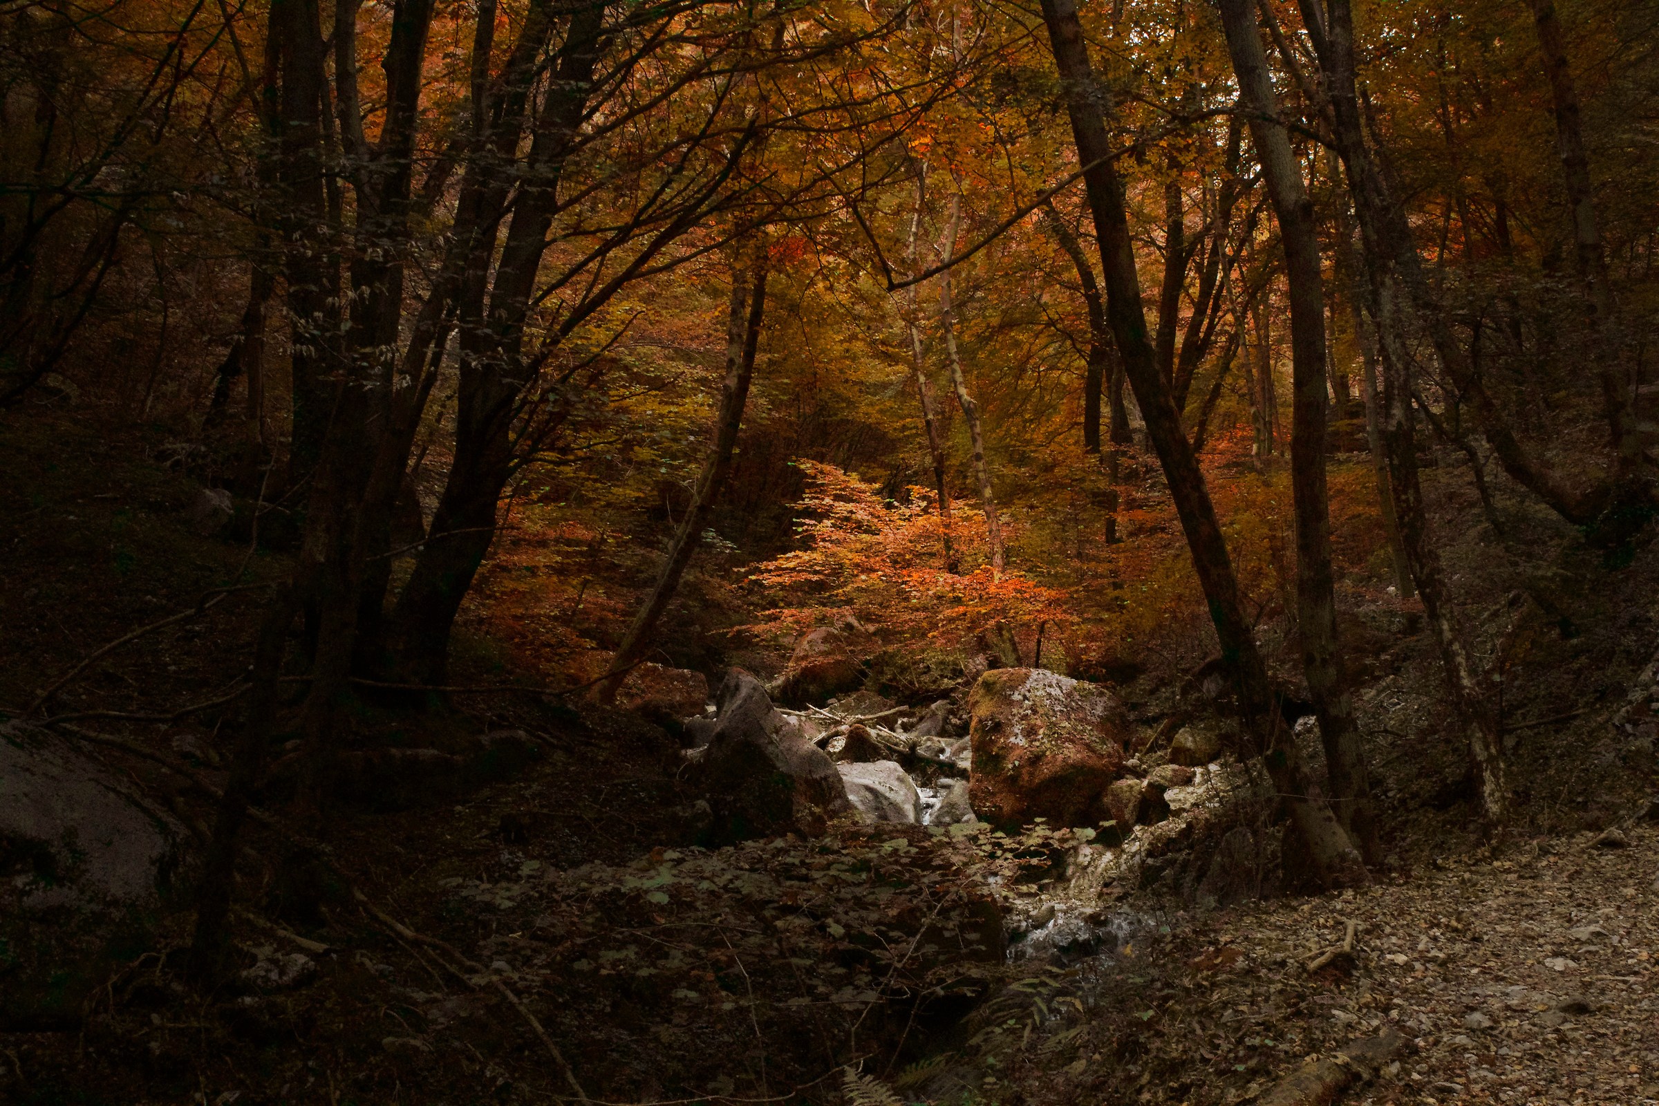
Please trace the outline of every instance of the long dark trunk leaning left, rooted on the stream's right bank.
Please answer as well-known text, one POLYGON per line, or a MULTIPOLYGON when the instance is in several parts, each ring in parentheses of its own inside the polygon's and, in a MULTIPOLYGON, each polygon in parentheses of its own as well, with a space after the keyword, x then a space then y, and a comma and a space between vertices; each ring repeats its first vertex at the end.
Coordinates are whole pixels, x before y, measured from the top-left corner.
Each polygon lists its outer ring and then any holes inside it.
POLYGON ((1277 695, 1267 680, 1267 667, 1244 617, 1238 577, 1216 521, 1214 504, 1209 501, 1209 489, 1181 429, 1181 416, 1158 371, 1141 308, 1123 182, 1113 161, 1118 151, 1107 138, 1107 99, 1093 80, 1075 0, 1042 0, 1042 13, 1067 91, 1067 111, 1078 161, 1087 167, 1083 182, 1095 217, 1112 332, 1141 416, 1146 420, 1146 436, 1158 453, 1181 517, 1193 567, 1221 642, 1223 660, 1234 675, 1239 706, 1254 735, 1254 749, 1244 753, 1262 756, 1267 774, 1307 849, 1314 874, 1326 885, 1364 882, 1367 879, 1364 861, 1331 811, 1331 804, 1309 778, 1294 735, 1284 725, 1277 695))

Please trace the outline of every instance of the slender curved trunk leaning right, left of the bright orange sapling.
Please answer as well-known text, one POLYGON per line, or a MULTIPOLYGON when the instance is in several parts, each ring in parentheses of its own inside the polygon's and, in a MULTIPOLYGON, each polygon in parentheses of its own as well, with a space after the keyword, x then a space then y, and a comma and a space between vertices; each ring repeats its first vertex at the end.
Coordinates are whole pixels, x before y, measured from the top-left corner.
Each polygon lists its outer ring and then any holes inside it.
POLYGON ((703 463, 703 474, 697 481, 697 499, 692 509, 680 519, 680 529, 669 546, 669 557, 657 575, 657 585, 650 589, 645 605, 634 615, 622 645, 617 647, 611 660, 611 670, 596 690, 601 703, 615 703, 617 688, 622 680, 644 657, 650 635, 662 620, 662 614, 674 600, 685 575, 692 554, 702 541, 708 514, 713 511, 720 489, 725 488, 732 473, 732 451, 737 448, 737 433, 743 426, 743 405, 748 401, 748 383, 755 376, 755 352, 760 348, 760 323, 766 308, 766 260, 761 255, 755 262, 753 289, 748 290, 745 305, 743 275, 732 274, 732 310, 727 318, 727 375, 720 388, 720 413, 715 423, 715 444, 703 463))

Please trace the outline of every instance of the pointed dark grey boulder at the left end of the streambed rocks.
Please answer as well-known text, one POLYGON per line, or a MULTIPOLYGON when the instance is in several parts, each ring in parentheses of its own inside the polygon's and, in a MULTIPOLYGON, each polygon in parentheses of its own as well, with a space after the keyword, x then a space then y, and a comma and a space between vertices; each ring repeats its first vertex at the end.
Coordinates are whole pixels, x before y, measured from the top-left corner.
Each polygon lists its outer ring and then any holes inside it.
POLYGON ((698 844, 728 844, 770 834, 816 836, 851 809, 830 756, 786 726, 760 680, 733 668, 720 685, 715 731, 687 769, 708 798, 698 844))

